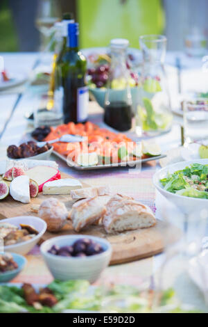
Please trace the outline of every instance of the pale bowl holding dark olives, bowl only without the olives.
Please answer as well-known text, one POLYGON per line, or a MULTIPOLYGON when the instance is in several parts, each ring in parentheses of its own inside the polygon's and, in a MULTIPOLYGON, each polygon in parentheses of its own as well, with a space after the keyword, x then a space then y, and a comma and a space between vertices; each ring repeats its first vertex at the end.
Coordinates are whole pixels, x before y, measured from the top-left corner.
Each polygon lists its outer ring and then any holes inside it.
POLYGON ((108 241, 100 237, 89 235, 67 235, 54 237, 45 241, 40 247, 44 261, 54 278, 58 280, 85 279, 95 282, 105 269, 112 255, 112 247, 108 241), (48 253, 51 246, 71 246, 76 240, 81 238, 92 239, 104 248, 103 253, 91 255, 89 257, 61 257, 48 253))

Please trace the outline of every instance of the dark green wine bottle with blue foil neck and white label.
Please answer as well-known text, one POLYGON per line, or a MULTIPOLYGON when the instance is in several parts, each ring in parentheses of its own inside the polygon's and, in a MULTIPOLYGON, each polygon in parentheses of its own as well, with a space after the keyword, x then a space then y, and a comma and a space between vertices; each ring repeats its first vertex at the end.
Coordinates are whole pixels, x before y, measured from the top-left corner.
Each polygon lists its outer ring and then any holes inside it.
POLYGON ((86 122, 88 115, 87 61, 78 49, 78 34, 78 23, 68 24, 67 51, 60 64, 64 123, 86 122))

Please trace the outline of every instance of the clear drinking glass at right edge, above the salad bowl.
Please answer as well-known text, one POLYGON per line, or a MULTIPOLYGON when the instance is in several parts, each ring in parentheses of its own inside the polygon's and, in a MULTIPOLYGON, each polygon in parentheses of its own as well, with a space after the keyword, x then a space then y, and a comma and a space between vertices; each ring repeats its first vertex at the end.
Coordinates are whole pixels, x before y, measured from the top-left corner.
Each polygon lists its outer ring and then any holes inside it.
POLYGON ((185 143, 208 137, 208 98, 185 100, 183 115, 185 143))

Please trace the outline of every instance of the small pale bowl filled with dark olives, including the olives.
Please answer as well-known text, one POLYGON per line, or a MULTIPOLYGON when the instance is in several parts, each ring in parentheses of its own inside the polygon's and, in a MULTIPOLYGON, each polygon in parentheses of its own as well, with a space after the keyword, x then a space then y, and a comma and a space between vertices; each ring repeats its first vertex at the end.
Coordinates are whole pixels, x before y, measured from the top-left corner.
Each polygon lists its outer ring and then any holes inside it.
POLYGON ((40 250, 53 277, 59 280, 95 282, 112 255, 108 241, 89 235, 54 237, 45 241, 40 250))

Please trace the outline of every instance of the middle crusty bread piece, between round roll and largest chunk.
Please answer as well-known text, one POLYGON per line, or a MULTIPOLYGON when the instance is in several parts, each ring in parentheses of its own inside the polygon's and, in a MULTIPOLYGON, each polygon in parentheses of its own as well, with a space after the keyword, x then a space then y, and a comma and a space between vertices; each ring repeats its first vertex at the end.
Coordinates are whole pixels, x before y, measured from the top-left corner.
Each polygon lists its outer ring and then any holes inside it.
POLYGON ((97 197, 74 203, 70 212, 73 229, 79 232, 85 226, 96 223, 104 216, 105 212, 105 206, 99 203, 97 197))

